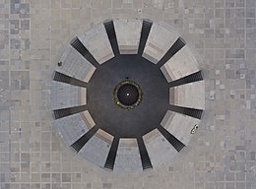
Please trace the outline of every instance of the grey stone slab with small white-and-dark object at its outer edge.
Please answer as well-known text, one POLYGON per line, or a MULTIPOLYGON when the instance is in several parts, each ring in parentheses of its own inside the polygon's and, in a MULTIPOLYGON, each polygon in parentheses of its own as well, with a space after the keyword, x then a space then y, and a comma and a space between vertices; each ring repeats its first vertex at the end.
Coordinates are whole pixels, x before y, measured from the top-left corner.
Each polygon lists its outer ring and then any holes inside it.
POLYGON ((167 111, 160 125, 187 146, 192 137, 191 130, 199 123, 199 119, 167 111))

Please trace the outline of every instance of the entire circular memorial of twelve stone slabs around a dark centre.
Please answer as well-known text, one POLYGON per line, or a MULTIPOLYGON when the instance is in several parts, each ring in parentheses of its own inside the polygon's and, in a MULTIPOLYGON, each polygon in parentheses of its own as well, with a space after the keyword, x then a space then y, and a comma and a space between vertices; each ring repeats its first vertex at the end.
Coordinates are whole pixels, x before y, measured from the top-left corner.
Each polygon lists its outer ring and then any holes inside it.
POLYGON ((58 134, 80 157, 141 171, 188 145, 205 106, 204 82, 171 27, 106 21, 70 44, 55 69, 53 112, 58 134))

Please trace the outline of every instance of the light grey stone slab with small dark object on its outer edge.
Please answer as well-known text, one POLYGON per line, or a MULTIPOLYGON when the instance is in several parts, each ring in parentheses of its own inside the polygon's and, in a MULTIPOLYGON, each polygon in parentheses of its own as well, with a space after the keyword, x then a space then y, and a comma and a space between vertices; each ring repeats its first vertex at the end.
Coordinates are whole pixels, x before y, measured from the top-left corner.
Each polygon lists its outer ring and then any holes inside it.
POLYGON ((96 70, 95 66, 71 45, 65 50, 60 61, 62 66, 55 69, 57 72, 85 82, 90 81, 96 70))

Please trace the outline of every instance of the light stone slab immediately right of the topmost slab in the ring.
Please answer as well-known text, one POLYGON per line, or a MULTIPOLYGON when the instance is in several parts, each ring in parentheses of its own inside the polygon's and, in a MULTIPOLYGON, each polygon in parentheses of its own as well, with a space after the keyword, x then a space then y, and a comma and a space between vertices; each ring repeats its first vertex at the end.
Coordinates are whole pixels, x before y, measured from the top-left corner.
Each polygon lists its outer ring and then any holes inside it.
POLYGON ((154 23, 143 52, 143 57, 157 64, 177 38, 178 34, 173 32, 170 26, 163 23, 154 23))

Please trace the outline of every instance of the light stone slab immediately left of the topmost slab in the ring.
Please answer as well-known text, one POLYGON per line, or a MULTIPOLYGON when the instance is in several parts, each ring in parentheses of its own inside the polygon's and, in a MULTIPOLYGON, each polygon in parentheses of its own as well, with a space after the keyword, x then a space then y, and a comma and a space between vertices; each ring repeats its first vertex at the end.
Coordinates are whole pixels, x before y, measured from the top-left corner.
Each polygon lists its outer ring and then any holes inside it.
POLYGON ((92 28, 92 30, 80 35, 79 39, 99 64, 102 64, 114 57, 112 47, 103 24, 99 24, 92 28))

